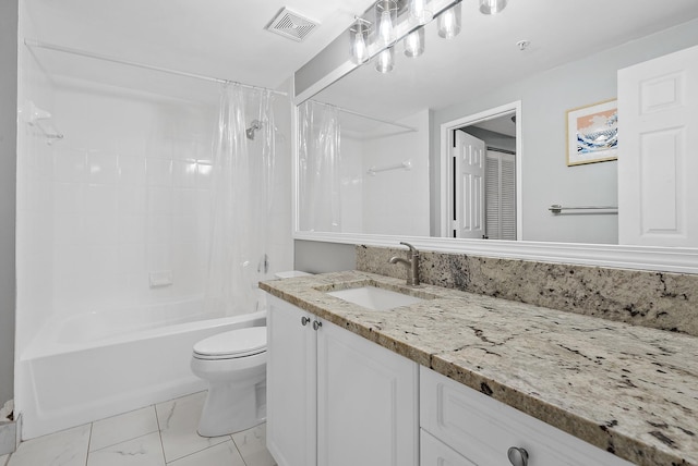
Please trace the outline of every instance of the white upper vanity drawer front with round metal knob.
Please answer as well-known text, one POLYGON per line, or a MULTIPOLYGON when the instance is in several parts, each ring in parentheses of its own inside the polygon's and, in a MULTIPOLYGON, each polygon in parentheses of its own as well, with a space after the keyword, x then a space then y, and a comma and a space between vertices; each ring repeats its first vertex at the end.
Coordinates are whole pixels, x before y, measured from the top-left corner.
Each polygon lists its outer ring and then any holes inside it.
POLYGON ((512 446, 528 452, 530 466, 631 465, 425 367, 420 367, 420 426, 467 458, 466 465, 508 465, 512 446))

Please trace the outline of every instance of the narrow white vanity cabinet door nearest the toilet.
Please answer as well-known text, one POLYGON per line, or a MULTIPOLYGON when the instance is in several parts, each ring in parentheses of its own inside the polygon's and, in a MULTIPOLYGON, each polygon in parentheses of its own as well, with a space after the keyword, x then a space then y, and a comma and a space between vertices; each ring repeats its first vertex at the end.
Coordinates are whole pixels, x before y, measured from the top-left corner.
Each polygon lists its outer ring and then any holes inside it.
POLYGON ((268 304, 267 447, 279 466, 311 466, 316 461, 314 319, 276 297, 268 296, 268 304))

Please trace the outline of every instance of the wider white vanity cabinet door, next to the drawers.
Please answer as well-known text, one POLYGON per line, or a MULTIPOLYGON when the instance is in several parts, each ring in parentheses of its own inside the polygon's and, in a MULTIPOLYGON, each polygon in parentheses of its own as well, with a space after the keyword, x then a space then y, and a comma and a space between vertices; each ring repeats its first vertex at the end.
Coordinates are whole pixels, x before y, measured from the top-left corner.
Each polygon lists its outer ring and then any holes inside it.
POLYGON ((317 465, 417 466, 418 370, 324 322, 317 331, 317 465))

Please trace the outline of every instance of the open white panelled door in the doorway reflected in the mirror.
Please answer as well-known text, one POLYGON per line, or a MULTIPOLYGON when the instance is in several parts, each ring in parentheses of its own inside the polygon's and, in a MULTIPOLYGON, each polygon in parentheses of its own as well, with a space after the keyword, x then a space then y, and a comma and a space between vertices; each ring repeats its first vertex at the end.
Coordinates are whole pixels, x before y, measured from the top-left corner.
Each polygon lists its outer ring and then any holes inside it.
POLYGON ((482 238, 484 231, 484 142, 454 132, 454 232, 456 237, 482 238))

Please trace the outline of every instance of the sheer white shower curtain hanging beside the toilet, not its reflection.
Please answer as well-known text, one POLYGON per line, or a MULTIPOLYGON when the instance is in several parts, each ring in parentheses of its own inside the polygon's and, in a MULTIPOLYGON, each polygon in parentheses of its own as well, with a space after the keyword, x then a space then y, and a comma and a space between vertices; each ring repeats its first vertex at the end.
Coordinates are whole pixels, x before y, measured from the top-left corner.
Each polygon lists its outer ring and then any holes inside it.
POLYGON ((268 270, 274 193, 273 94, 237 84, 221 88, 214 143, 207 311, 233 316, 257 310, 257 283, 268 270), (257 120, 250 138, 246 130, 257 120))

